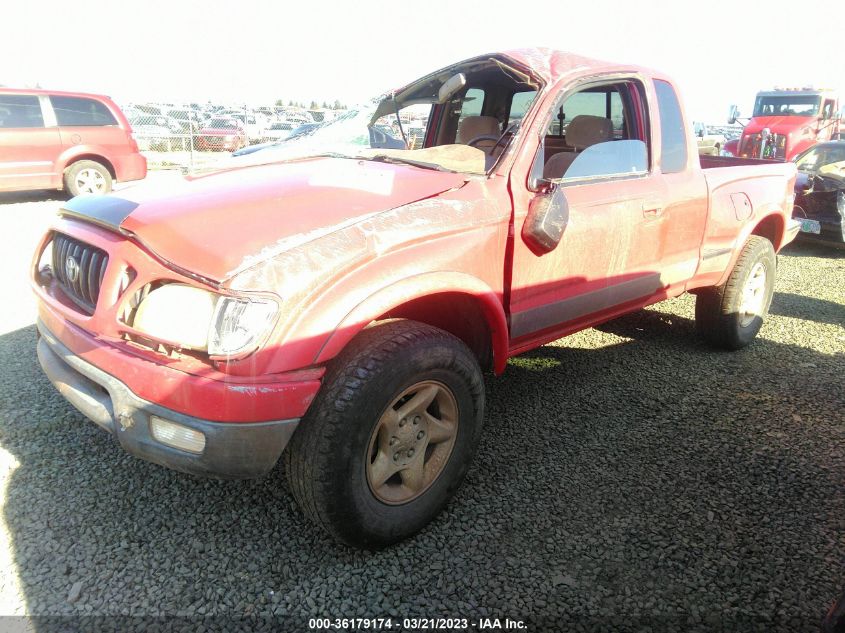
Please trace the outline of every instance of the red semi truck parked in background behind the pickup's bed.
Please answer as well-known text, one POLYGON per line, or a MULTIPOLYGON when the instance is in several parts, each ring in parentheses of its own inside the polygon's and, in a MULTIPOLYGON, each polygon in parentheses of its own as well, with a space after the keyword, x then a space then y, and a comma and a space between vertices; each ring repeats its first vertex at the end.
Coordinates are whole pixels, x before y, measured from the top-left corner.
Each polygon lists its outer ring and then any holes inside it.
MULTIPOLYGON (((731 106, 728 123, 739 110, 731 106)), ((742 158, 792 160, 812 145, 839 138, 842 126, 839 99, 830 90, 776 88, 757 93, 754 112, 739 139, 725 144, 725 152, 742 158)))

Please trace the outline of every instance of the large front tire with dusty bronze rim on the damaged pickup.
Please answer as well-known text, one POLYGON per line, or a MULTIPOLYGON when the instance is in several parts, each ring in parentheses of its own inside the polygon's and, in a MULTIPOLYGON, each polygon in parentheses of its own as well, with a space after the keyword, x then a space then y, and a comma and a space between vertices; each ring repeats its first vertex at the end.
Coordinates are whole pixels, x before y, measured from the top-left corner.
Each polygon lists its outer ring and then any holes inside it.
POLYGON ((309 519, 347 545, 377 549, 400 541, 428 524, 460 487, 483 416, 481 369, 462 341, 415 321, 377 323, 330 363, 291 440, 286 467, 293 496, 309 519), (425 402, 433 389, 437 396, 421 410, 425 419, 393 415, 394 406, 402 415, 402 405, 425 402), (385 420, 394 418, 389 427, 385 420), (439 418, 437 427, 428 426, 432 418, 439 418), (435 442, 447 420, 454 422, 452 439, 435 442), (411 464, 404 470, 400 452, 411 464), (377 483, 382 463, 400 472, 377 483), (418 464, 421 471, 413 468, 418 464))

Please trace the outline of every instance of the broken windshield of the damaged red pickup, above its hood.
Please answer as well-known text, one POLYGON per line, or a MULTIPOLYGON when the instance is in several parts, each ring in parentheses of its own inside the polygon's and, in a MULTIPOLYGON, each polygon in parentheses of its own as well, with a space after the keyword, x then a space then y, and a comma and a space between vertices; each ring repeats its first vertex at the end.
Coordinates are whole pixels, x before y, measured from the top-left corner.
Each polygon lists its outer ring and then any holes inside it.
POLYGON ((255 165, 314 156, 337 156, 389 161, 418 167, 483 174, 489 157, 481 149, 466 144, 423 147, 431 103, 415 102, 398 114, 392 97, 381 96, 352 107, 331 121, 303 126, 291 137, 266 149, 237 157, 239 165, 255 165), (385 102, 391 102, 389 114, 385 102), (400 125, 401 121, 401 125, 400 125))

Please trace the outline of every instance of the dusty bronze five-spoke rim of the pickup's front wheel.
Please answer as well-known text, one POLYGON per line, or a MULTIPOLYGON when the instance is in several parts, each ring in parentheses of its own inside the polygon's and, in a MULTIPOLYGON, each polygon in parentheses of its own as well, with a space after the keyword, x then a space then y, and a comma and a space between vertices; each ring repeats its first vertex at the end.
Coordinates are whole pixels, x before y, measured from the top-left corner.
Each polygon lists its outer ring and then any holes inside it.
POLYGON ((367 446, 367 483, 390 505, 408 503, 443 472, 458 432, 458 404, 443 383, 405 389, 379 418, 367 446))

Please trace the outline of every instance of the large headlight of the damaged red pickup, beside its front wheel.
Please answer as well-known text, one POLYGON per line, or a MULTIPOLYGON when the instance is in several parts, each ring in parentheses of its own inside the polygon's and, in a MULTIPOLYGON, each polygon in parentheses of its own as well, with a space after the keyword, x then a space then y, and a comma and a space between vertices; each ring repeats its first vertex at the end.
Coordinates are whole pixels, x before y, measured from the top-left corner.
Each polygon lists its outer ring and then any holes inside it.
POLYGON ((144 298, 132 326, 184 349, 237 357, 258 347, 278 309, 270 299, 218 295, 172 283, 144 298))

